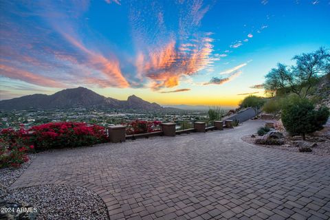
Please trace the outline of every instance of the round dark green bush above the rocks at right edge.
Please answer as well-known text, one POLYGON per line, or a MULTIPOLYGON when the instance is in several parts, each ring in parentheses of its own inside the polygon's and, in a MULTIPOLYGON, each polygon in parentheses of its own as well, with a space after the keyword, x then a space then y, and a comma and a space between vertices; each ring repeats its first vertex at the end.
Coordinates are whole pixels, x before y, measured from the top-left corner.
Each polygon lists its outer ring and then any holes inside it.
POLYGON ((307 133, 323 128, 329 118, 329 109, 321 107, 316 110, 312 102, 300 99, 285 105, 281 118, 290 135, 301 135, 305 140, 307 133))

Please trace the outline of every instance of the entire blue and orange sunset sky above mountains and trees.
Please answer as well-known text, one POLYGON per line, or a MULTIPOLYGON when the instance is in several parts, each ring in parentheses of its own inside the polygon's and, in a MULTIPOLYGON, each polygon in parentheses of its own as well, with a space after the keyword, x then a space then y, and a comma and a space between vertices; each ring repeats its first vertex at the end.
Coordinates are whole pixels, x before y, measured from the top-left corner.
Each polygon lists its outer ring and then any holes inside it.
POLYGON ((235 106, 276 63, 330 48, 330 0, 8 0, 0 21, 0 99, 83 86, 235 106))

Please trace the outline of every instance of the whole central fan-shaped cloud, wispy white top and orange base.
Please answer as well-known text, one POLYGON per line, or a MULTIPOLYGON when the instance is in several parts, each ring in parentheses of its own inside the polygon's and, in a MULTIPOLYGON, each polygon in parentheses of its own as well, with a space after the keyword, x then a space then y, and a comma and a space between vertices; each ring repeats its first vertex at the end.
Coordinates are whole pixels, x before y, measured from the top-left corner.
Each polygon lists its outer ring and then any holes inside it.
POLYGON ((219 60, 212 56, 212 33, 198 31, 210 5, 201 0, 175 1, 173 7, 178 13, 171 14, 171 19, 177 19, 178 31, 166 23, 168 17, 161 1, 148 8, 139 5, 131 9, 130 21, 137 50, 136 76, 146 87, 153 90, 175 87, 184 76, 212 69, 212 63, 219 60))

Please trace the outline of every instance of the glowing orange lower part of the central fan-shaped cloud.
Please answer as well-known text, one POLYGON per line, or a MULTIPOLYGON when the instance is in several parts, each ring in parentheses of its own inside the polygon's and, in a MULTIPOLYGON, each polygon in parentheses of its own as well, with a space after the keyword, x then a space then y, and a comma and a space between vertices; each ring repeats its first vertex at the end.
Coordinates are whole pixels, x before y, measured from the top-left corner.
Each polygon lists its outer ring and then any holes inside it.
POLYGON ((172 40, 158 50, 152 50, 145 58, 139 54, 135 61, 138 73, 150 78, 151 89, 175 87, 181 76, 192 75, 212 63, 212 39, 204 37, 192 43, 179 45, 179 48, 190 47, 190 52, 178 50, 176 41, 172 40))

